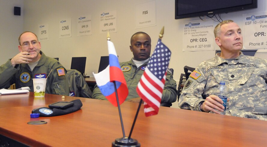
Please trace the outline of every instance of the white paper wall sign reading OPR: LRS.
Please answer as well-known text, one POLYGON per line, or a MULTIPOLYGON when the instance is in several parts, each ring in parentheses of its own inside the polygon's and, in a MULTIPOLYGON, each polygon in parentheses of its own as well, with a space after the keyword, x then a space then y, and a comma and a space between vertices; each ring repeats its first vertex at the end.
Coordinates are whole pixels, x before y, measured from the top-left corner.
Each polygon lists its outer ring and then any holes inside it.
POLYGON ((117 32, 117 10, 101 12, 100 34, 107 32, 117 32))

